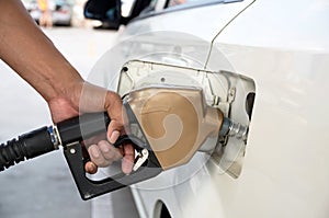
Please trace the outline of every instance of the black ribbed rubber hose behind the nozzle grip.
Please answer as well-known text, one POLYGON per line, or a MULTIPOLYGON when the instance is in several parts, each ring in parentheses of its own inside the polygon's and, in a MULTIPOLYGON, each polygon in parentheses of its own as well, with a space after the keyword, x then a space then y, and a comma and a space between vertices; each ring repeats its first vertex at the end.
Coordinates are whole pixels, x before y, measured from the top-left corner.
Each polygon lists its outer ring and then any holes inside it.
POLYGON ((56 149, 52 141, 48 127, 30 131, 18 139, 0 145, 0 171, 21 161, 35 158, 56 149))

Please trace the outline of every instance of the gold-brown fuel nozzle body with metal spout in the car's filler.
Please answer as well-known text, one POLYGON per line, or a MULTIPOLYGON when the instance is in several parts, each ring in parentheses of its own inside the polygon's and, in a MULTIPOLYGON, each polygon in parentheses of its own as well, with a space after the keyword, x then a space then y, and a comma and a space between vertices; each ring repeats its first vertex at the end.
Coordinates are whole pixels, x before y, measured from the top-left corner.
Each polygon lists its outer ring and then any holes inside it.
POLYGON ((163 170, 189 162, 207 138, 247 137, 248 128, 208 106, 198 88, 147 87, 126 101, 163 170))

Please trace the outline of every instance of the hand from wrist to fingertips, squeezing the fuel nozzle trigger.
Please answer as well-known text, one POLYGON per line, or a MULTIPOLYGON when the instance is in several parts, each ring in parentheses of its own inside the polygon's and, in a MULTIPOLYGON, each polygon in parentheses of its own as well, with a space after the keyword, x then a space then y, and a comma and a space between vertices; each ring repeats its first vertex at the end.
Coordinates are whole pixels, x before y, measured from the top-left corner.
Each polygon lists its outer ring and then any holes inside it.
POLYGON ((86 163, 86 171, 95 173, 98 167, 109 167, 113 161, 123 158, 122 170, 129 174, 135 159, 133 146, 124 145, 116 149, 111 145, 125 134, 121 97, 114 92, 86 82, 72 85, 67 93, 48 102, 54 123, 98 111, 106 111, 111 117, 106 137, 109 141, 100 140, 98 144, 88 146, 91 162, 86 163))

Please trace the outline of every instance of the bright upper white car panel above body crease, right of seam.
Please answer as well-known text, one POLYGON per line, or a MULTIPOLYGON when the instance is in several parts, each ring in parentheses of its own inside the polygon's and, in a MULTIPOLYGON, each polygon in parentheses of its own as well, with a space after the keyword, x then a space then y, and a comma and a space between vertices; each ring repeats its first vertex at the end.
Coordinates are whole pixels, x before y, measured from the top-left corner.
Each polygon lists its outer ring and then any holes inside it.
POLYGON ((217 41, 283 50, 326 51, 329 49, 328 8, 326 0, 256 1, 217 41))

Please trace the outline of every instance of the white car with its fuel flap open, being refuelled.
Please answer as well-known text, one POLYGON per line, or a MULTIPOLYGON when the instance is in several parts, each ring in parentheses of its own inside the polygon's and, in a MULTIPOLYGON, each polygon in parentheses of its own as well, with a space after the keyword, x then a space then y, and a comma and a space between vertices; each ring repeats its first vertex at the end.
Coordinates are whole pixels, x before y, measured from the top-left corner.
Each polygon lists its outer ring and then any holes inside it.
POLYGON ((90 81, 202 89, 249 128, 131 185, 139 217, 329 216, 328 21, 325 0, 156 0, 121 28, 90 81))

